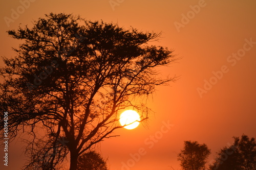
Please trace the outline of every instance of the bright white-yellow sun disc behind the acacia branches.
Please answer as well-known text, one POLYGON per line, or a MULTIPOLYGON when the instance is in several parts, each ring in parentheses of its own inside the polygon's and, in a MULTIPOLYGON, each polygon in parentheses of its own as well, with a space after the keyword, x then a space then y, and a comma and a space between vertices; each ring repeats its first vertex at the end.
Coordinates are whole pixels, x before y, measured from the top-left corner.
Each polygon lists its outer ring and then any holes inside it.
POLYGON ((125 129, 134 129, 139 126, 140 115, 134 110, 125 110, 120 115, 119 122, 121 126, 127 125, 125 129))

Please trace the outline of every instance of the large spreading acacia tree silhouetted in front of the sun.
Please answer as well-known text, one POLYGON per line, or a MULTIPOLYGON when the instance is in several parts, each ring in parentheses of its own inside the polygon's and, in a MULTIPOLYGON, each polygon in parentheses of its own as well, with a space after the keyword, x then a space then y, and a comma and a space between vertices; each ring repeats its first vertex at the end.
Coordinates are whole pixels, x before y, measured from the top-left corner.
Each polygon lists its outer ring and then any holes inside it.
POLYGON ((32 136, 25 169, 61 168, 68 153, 70 169, 77 169, 82 153, 123 127, 121 110, 146 119, 150 109, 140 96, 174 80, 157 76, 157 66, 176 60, 167 48, 148 45, 157 33, 50 13, 8 34, 22 44, 15 58, 4 58, 0 109, 9 114, 9 138, 21 129, 32 136))

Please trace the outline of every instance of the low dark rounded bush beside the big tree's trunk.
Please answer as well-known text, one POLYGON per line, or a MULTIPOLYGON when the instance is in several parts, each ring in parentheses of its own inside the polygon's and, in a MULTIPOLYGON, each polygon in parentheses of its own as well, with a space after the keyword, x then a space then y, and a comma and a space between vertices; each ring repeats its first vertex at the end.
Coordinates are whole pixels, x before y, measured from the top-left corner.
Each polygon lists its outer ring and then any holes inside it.
POLYGON ((106 162, 99 153, 89 151, 78 157, 78 170, 108 170, 106 162))

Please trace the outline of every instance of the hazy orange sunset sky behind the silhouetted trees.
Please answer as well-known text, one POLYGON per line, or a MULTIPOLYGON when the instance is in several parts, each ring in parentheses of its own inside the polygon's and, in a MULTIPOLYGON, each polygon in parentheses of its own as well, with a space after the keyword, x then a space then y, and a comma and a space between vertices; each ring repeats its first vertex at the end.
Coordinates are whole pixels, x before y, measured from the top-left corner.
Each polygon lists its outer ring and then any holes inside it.
MULTIPOLYGON (((7 30, 17 29, 20 23, 30 26, 32 20, 50 12, 65 12, 118 22, 123 28, 162 31, 155 44, 182 58, 159 67, 162 76, 180 79, 158 87, 149 98, 147 106, 155 114, 147 126, 118 130, 115 134, 120 137, 101 142, 101 154, 108 158, 111 170, 178 169, 177 153, 184 140, 206 143, 212 152, 210 161, 220 148, 232 143, 232 136, 256 137, 256 1, 22 2, 28 1, 0 3, 0 56, 13 57, 11 47, 19 43, 8 37, 7 30)), ((9 166, 4 169, 22 167, 22 144, 13 142, 9 148, 9 166)), ((3 153, 0 149, 1 169, 3 153)))

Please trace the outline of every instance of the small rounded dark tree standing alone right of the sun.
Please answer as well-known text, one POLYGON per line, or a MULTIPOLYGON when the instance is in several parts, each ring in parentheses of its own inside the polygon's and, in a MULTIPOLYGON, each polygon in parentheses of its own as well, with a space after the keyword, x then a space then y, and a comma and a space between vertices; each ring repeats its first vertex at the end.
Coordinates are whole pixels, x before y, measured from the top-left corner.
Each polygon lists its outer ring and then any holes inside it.
POLYGON ((199 144, 197 141, 184 141, 184 149, 178 154, 178 160, 184 170, 205 169, 206 159, 210 150, 206 144, 199 144))

